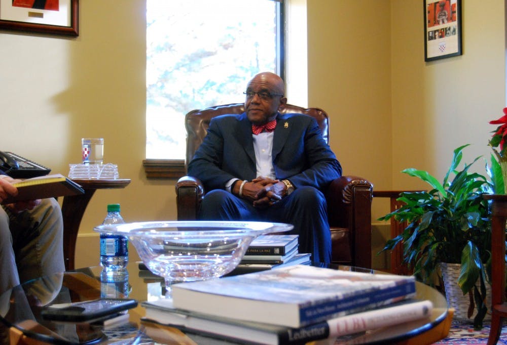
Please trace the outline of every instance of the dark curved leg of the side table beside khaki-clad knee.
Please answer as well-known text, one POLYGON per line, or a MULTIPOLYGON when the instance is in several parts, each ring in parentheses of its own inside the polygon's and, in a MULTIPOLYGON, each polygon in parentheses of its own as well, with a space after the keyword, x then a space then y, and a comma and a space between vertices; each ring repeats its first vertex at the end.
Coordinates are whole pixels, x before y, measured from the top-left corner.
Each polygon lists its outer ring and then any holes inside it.
POLYGON ((85 189, 84 194, 68 195, 63 198, 63 256, 65 270, 74 270, 76 241, 79 225, 85 213, 86 206, 95 193, 95 189, 85 189))

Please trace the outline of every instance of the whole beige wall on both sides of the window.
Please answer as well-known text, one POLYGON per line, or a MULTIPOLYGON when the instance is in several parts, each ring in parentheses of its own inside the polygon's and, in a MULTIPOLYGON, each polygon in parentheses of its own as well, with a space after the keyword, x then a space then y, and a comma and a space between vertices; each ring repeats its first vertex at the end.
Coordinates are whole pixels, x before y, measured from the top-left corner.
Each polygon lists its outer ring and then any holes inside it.
MULTIPOLYGON (((176 218, 174 181, 147 180, 141 164, 144 6, 82 1, 77 38, 0 30, 0 149, 67 174, 80 160, 80 138, 103 137, 105 161, 132 179, 125 190, 96 192, 78 267, 98 262, 92 229, 107 203, 121 203, 128 221, 176 218)), ((505 104, 504 3, 463 6, 463 56, 425 63, 420 0, 307 2, 308 105, 331 114, 331 146, 345 174, 379 190, 422 188, 399 171, 440 177, 464 143, 473 144, 465 158, 489 154, 488 121, 505 104)), ((374 201, 374 219, 386 207, 374 201)))

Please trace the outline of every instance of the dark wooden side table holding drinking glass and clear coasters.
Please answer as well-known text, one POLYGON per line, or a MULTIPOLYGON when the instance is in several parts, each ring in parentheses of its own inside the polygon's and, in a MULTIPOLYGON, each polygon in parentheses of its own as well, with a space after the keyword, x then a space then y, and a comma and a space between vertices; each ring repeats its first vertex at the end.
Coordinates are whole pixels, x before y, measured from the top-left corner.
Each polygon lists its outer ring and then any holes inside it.
POLYGON ((63 197, 63 257, 65 270, 74 270, 76 241, 78 239, 79 225, 85 213, 86 206, 97 189, 125 188, 130 179, 117 180, 75 180, 85 190, 84 194, 68 195, 63 197))

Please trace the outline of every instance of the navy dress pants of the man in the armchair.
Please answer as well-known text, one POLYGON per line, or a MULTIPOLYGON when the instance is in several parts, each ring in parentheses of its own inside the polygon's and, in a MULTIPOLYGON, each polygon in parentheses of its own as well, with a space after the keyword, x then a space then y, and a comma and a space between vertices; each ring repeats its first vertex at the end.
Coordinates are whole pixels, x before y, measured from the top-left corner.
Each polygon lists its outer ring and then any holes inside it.
POLYGON ((313 187, 300 187, 267 208, 256 208, 222 189, 205 194, 200 220, 288 223, 289 234, 299 235, 299 252, 311 253, 313 262, 331 262, 331 233, 324 195, 313 187))

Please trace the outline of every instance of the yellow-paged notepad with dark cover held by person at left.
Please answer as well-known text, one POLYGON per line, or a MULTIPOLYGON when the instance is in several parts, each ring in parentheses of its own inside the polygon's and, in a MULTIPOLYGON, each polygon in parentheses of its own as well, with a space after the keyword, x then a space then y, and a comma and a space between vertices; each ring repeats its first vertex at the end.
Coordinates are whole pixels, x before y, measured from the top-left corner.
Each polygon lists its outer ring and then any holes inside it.
POLYGON ((2 201, 2 204, 65 195, 77 195, 85 192, 80 185, 60 174, 34 177, 19 181, 13 185, 18 189, 18 194, 16 196, 9 195, 2 201))

